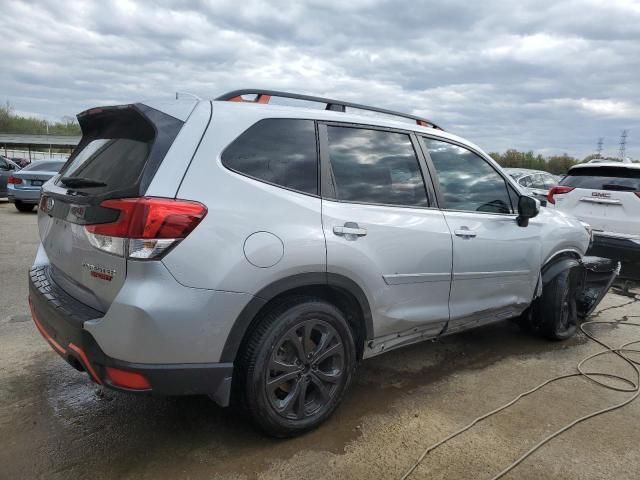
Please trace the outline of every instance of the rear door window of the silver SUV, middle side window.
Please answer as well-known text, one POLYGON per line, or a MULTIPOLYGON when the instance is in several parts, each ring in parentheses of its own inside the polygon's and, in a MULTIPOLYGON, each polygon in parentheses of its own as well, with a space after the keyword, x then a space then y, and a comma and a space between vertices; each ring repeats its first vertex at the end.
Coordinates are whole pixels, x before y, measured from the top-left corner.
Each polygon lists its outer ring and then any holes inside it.
POLYGON ((338 200, 429 205, 409 135, 331 126, 327 131, 338 200))

